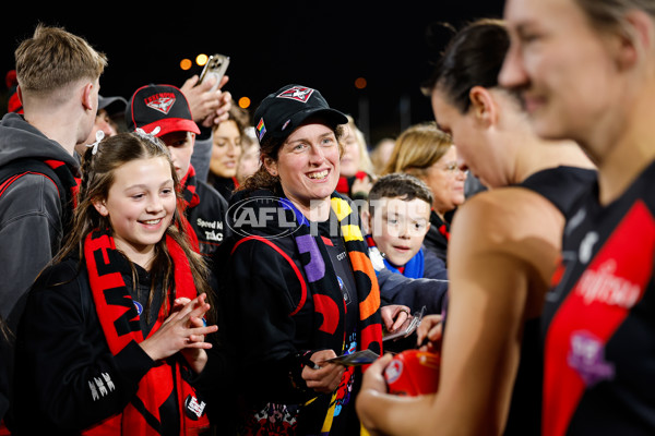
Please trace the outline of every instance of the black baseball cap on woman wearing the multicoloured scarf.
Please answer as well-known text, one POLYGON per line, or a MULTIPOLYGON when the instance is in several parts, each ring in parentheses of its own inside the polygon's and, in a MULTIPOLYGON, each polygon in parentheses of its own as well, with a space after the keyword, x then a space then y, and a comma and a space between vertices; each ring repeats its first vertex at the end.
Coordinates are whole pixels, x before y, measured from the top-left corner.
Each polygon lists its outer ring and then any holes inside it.
POLYGON ((254 111, 254 133, 264 138, 286 138, 309 117, 319 117, 330 125, 346 124, 348 119, 330 108, 318 89, 302 85, 286 85, 269 94, 254 111))

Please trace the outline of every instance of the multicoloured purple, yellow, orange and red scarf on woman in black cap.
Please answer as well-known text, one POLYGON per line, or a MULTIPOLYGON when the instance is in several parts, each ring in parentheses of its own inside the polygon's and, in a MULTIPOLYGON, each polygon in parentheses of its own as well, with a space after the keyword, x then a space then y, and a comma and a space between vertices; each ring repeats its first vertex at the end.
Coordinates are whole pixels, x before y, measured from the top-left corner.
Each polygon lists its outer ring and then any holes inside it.
MULTIPOLYGON (((294 240, 302 258, 302 267, 307 276, 308 289, 312 295, 314 311, 314 343, 318 349, 333 349, 337 354, 343 350, 345 339, 345 304, 340 283, 330 261, 325 242, 320 234, 311 234, 310 223, 290 202, 283 207, 294 210, 299 223, 294 232, 294 240)), ((359 302, 359 320, 357 326, 357 349, 370 349, 382 353, 382 325, 380 316, 380 289, 376 270, 368 257, 368 247, 358 226, 357 211, 336 192, 331 197, 332 211, 338 220, 338 230, 344 240, 346 252, 353 266, 357 301, 359 302)), ((345 372, 344 376, 350 376, 345 372)), ((343 380, 342 380, 342 385, 343 380)), ((344 392, 337 389, 330 400, 321 434, 329 434, 334 417, 337 398, 344 392)), ((350 399, 353 401, 354 398, 350 399)))

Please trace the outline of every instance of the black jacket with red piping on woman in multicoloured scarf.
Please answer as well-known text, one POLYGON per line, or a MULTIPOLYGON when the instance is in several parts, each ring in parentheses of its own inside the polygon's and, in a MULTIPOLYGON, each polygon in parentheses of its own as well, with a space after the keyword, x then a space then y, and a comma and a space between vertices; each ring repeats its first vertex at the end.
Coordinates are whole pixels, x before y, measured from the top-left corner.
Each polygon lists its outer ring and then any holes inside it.
MULTIPOLYGON (((230 205, 242 195, 237 193, 230 205)), ((252 217, 248 222, 228 217, 236 230, 226 245, 229 259, 217 274, 223 278, 222 295, 226 299, 222 305, 230 307, 226 328, 238 350, 239 367, 248 374, 243 382, 250 395, 301 402, 311 393, 289 379, 289 373, 299 376, 299 352, 315 350, 313 302, 309 296, 302 301, 307 278, 294 238, 282 226, 271 221, 258 226, 257 215, 252 217), (267 243, 248 240, 251 235, 267 243), (300 304, 300 311, 289 316, 300 304)))

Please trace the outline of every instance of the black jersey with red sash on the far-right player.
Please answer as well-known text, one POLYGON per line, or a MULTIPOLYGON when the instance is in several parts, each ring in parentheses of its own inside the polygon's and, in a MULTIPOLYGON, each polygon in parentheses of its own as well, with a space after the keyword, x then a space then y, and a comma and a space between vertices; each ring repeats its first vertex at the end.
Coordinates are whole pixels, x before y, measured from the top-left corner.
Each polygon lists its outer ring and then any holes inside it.
POLYGON ((652 164, 568 220, 543 317, 546 436, 655 434, 654 186, 652 164))

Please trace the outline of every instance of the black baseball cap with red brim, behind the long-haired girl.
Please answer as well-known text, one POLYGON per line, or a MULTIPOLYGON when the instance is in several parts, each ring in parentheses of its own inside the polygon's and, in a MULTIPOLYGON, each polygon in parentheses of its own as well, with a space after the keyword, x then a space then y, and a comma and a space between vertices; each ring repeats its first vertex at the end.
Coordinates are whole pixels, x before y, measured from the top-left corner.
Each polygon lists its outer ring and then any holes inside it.
POLYGON ((172 85, 145 85, 136 89, 126 110, 126 122, 130 132, 142 129, 151 133, 158 126, 156 136, 179 131, 200 134, 187 98, 172 85))

